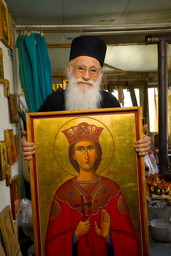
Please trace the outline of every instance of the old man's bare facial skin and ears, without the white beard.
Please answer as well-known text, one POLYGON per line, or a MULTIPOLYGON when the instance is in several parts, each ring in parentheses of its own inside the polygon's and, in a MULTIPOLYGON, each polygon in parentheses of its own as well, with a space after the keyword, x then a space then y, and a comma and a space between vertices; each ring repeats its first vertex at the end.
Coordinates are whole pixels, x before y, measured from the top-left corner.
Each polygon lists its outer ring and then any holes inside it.
MULTIPOLYGON (((76 65, 83 65, 85 66, 86 68, 98 68, 98 69, 101 69, 100 67, 100 62, 95 59, 95 58, 92 58, 92 57, 89 57, 89 56, 79 56, 79 57, 76 57, 73 59, 73 62, 72 62, 72 65, 76 66, 76 65)), ((90 73, 89 73, 89 70, 86 69, 86 71, 83 73, 83 74, 78 74, 76 71, 75 71, 75 68, 73 66, 70 66, 68 65, 67 66, 67 71, 70 70, 70 68, 73 68, 74 70, 74 76, 75 78, 83 78, 84 79, 84 82, 80 82, 80 85, 85 85, 85 86, 88 86, 90 85, 89 84, 89 79, 91 79, 92 81, 96 81, 98 76, 91 76, 90 73)), ((103 70, 100 70, 99 71, 100 74, 101 74, 101 77, 103 76, 103 70)))

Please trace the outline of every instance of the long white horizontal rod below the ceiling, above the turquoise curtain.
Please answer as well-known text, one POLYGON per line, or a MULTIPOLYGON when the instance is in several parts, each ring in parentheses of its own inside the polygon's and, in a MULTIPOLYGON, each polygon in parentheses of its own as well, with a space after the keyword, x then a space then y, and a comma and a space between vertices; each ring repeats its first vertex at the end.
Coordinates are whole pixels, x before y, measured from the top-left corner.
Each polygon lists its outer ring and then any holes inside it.
POLYGON ((22 27, 37 27, 37 28, 74 28, 74 27, 141 27, 141 26, 170 26, 171 22, 168 23, 140 23, 140 24, 81 24, 81 25, 13 25, 15 28, 22 27))

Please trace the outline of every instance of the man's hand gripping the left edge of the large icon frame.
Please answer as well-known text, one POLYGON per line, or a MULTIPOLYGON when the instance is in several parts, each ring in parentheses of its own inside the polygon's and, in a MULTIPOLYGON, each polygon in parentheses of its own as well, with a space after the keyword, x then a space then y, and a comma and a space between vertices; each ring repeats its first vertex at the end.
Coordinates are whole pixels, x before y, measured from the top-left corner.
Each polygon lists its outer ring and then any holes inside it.
POLYGON ((22 131, 21 132, 24 137, 26 137, 24 140, 21 141, 21 148, 24 155, 24 160, 31 160, 33 158, 33 155, 35 154, 35 144, 33 142, 27 141, 27 132, 22 131))

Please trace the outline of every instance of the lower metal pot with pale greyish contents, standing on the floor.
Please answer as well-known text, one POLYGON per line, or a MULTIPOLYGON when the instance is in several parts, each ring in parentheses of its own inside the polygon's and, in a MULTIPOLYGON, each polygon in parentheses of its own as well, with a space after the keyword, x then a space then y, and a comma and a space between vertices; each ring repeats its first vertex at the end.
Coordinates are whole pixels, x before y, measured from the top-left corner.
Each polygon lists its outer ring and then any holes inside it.
POLYGON ((171 221, 155 219, 150 221, 151 237, 159 243, 171 243, 171 221))

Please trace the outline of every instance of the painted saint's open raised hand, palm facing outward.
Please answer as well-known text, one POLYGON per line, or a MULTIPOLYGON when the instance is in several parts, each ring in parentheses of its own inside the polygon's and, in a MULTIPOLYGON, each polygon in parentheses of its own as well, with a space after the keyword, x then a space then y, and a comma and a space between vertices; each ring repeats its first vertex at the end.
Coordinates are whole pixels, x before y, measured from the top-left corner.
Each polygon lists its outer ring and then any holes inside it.
POLYGON ((106 209, 100 210, 101 213, 101 221, 100 226, 98 228, 97 222, 94 221, 94 229, 98 237, 106 240, 109 237, 109 229, 110 229, 110 215, 106 211, 106 209))

